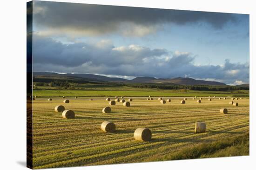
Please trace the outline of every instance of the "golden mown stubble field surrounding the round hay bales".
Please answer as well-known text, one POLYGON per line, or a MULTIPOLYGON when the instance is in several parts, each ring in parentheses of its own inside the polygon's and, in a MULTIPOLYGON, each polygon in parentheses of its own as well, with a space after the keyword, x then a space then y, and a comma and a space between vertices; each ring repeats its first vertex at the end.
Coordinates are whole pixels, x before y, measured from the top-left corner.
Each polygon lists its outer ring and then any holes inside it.
MULTIPOLYGON (((34 94, 41 95, 36 90, 34 94)), ((33 101, 35 169, 170 160, 173 159, 172 153, 190 151, 191 148, 193 151, 198 145, 214 145, 214 142, 222 143, 223 139, 233 141, 249 133, 249 99, 238 100, 239 106, 233 107, 229 105, 230 98, 212 101, 203 98, 202 103, 188 98, 186 104, 180 104, 182 98, 171 97, 170 103, 161 104, 156 98, 146 101, 146 98, 134 97, 131 107, 117 103, 111 106, 112 113, 109 114, 101 112, 103 107, 109 106, 105 98, 94 98, 94 101, 88 101, 88 98, 66 99, 70 99, 70 103, 64 104, 63 99, 57 97, 53 101, 43 97, 33 101), (72 109, 75 119, 63 119, 61 113, 55 113, 57 105, 72 109), (229 114, 219 113, 220 108, 227 108, 229 114), (101 131, 101 123, 105 120, 115 123, 115 133, 101 131), (205 122, 207 132, 195 133, 195 121, 205 122), (152 131, 150 142, 134 140, 134 131, 138 127, 148 127, 152 131)), ((249 147, 224 146, 198 157, 232 156, 223 152, 236 152, 237 149, 238 153, 239 148, 249 147)), ((240 154, 248 155, 249 148, 240 154)))

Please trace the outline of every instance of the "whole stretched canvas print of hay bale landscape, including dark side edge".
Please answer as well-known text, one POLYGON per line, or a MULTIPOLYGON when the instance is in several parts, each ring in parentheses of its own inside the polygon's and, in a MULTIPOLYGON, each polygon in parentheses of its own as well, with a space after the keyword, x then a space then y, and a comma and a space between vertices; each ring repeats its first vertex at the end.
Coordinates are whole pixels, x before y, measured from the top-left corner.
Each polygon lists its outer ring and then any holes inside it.
POLYGON ((27 167, 246 155, 248 14, 27 2, 27 167))

